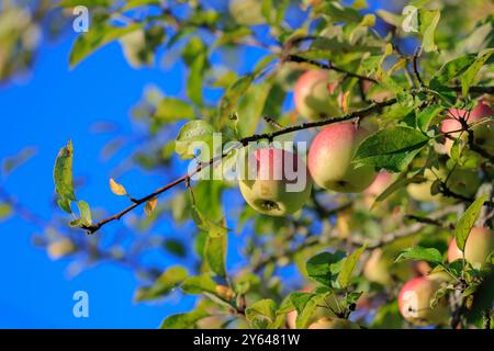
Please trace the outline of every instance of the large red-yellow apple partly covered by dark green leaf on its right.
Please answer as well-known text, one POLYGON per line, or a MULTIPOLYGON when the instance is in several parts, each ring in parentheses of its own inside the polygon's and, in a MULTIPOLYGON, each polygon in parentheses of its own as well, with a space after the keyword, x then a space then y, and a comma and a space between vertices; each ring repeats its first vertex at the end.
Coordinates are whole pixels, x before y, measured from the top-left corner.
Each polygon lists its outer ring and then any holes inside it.
POLYGON ((307 166, 321 188, 340 193, 359 193, 375 179, 371 166, 351 163, 359 143, 369 135, 352 123, 335 123, 323 128, 312 141, 307 166))

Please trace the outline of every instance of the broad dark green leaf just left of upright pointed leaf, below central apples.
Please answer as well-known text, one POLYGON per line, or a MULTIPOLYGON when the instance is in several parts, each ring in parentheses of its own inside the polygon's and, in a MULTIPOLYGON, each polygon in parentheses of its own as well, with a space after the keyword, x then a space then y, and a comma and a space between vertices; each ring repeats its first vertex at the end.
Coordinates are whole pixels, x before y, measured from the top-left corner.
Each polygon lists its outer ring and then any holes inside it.
POLYGON ((305 267, 311 279, 329 286, 340 272, 344 260, 343 251, 322 252, 311 258, 305 267))

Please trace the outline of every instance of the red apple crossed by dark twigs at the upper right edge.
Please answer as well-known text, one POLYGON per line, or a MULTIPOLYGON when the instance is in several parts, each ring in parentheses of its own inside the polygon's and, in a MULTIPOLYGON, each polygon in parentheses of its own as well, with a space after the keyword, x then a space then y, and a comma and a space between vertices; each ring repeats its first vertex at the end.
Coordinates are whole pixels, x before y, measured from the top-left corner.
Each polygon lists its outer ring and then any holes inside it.
MULTIPOLYGON (((494 115, 494 110, 485 102, 485 100, 480 100, 479 103, 470 111, 470 114, 465 110, 457 110, 450 109, 449 114, 454 116, 456 118, 467 118, 468 124, 472 124, 483 117, 494 115)), ((448 133, 453 131, 461 129, 461 123, 452 117, 446 118, 441 124, 441 132, 448 133)), ((472 128, 474 141, 479 146, 483 147, 491 155, 494 154, 494 123, 485 123, 483 125, 479 125, 472 128)), ((451 133, 450 136, 458 138, 460 136, 460 132, 451 133)), ((467 138, 467 133, 463 133, 462 137, 467 138)), ((450 138, 446 138, 445 149, 449 154, 451 151, 451 147, 453 145, 453 140, 450 138)))

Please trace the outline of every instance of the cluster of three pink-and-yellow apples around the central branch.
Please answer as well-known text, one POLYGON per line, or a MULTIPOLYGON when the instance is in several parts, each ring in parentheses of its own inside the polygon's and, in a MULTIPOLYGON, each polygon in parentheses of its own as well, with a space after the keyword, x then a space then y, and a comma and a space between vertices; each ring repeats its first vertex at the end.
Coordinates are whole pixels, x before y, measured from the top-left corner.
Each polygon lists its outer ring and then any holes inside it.
MULTIPOLYGON (((304 72, 294 88, 297 112, 311 120, 337 114, 337 106, 329 100, 334 88, 326 71, 304 72)), ((306 203, 313 182, 336 192, 361 192, 373 182, 377 172, 370 166, 356 167, 351 159, 359 143, 369 134, 368 129, 352 123, 330 124, 312 141, 307 163, 288 150, 258 149, 250 156, 255 160, 257 176, 240 180, 240 192, 251 207, 271 216, 285 216, 299 211, 306 203), (288 169, 287 163, 294 168, 288 169), (287 174, 291 171, 305 176, 305 184, 297 192, 287 190, 287 185, 293 183, 287 174), (281 177, 274 179, 272 174, 281 177)))

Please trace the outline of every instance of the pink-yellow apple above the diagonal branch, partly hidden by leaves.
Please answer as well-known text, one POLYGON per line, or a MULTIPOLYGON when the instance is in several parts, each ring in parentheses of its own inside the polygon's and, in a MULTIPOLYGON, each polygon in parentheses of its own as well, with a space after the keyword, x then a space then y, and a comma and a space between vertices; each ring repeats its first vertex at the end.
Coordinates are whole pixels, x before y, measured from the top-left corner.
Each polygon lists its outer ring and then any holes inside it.
POLYGON ((296 111, 310 120, 338 115, 339 109, 330 100, 336 87, 326 70, 312 69, 302 73, 293 90, 296 111))

